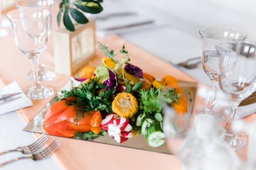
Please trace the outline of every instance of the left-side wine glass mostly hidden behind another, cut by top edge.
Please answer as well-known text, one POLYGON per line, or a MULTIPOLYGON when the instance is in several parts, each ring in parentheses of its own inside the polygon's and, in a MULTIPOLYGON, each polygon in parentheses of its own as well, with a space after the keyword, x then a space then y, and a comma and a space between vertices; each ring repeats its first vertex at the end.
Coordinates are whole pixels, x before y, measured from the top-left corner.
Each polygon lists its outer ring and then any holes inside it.
MULTIPOLYGON (((51 32, 52 17, 51 13, 53 10, 53 0, 16 0, 14 4, 17 8, 44 8, 50 11, 50 18, 48 23, 48 37, 51 32)), ((40 64, 38 67, 38 79, 41 81, 50 81, 56 77, 56 73, 45 68, 45 64, 40 64)), ((33 80, 33 72, 28 73, 28 79, 33 80)))

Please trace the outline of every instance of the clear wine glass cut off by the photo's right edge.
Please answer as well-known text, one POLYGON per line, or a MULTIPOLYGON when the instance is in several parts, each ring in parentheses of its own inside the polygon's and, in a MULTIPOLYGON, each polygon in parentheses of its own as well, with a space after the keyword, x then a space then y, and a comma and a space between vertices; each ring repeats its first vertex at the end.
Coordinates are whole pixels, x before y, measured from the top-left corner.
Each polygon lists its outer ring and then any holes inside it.
MULTIPOLYGON (((226 42, 216 46, 220 54, 220 89, 230 101, 230 125, 240 102, 256 90, 256 44, 226 42)), ((247 138, 242 132, 232 132, 230 125, 225 140, 233 149, 242 148, 247 138)))

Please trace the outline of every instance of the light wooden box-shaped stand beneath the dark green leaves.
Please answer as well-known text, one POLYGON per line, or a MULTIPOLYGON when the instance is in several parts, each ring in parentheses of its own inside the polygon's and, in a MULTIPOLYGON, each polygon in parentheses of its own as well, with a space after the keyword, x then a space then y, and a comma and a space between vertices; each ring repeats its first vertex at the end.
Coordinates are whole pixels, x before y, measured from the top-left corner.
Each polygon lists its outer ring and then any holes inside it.
POLYGON ((95 19, 76 25, 73 32, 60 28, 53 38, 55 72, 74 75, 95 55, 95 19))

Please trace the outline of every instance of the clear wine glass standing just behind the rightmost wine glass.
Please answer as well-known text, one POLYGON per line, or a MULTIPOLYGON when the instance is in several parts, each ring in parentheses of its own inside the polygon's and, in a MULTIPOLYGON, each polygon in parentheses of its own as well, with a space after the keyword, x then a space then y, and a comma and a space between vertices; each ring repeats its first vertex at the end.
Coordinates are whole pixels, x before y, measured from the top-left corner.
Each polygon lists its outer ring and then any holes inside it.
POLYGON ((211 94, 206 108, 201 108, 197 113, 213 113, 216 91, 218 90, 218 69, 220 57, 215 50, 215 45, 220 42, 239 40, 243 41, 247 38, 244 31, 238 28, 225 26, 211 26, 202 28, 199 31, 202 38, 202 64, 203 71, 206 72, 211 82, 211 94))

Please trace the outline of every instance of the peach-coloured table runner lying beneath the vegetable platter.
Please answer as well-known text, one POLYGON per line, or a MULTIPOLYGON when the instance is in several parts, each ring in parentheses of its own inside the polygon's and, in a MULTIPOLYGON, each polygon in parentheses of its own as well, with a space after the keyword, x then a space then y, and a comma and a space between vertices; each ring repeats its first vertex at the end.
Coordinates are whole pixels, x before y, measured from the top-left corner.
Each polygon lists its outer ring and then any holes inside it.
MULTIPOLYGON (((58 29, 55 22, 57 12, 58 6, 54 6, 53 31, 58 29)), ((9 32, 10 35, 8 37, 0 39, 0 83, 1 86, 4 86, 12 81, 17 81, 23 89, 26 86, 32 85, 32 81, 28 81, 26 78, 26 74, 31 71, 31 65, 26 56, 16 47, 13 35, 11 34, 11 28, 9 32)), ((117 35, 98 40, 115 51, 119 51, 122 45, 125 44, 132 60, 131 63, 142 68, 144 72, 155 75, 156 77, 164 77, 166 74, 171 74, 179 80, 196 81, 179 69, 171 66, 171 64, 122 40, 122 38, 119 38, 117 35)), ((54 70, 53 56, 53 36, 50 36, 48 47, 41 56, 41 62, 46 64, 48 69, 52 70, 54 70)), ((92 64, 100 64, 100 58, 102 57, 104 57, 104 53, 97 50, 96 57, 91 60, 92 64)), ((54 86, 55 91, 58 91, 68 79, 68 76, 58 74, 53 81, 43 82, 43 84, 54 86)), ((199 86, 203 85, 199 84, 199 86)), ((23 108, 19 110, 18 113, 23 120, 28 123, 50 99, 51 98, 46 98, 33 101, 33 106, 23 108)), ((196 98, 195 106, 197 103, 202 102, 202 98, 196 98)), ((255 120, 256 115, 250 115, 246 119, 249 121, 255 120)), ((65 137, 57 138, 62 145, 55 154, 53 154, 53 157, 62 169, 181 169, 181 161, 174 155, 73 140, 65 137)), ((172 143, 180 145, 181 142, 177 141, 172 143)), ((175 146, 171 147, 174 150, 178 149, 178 147, 175 146)), ((245 149, 238 152, 238 154, 240 154, 241 157, 245 157, 245 149)))

